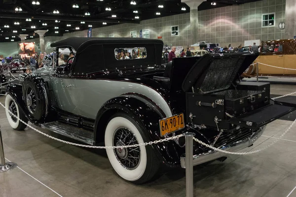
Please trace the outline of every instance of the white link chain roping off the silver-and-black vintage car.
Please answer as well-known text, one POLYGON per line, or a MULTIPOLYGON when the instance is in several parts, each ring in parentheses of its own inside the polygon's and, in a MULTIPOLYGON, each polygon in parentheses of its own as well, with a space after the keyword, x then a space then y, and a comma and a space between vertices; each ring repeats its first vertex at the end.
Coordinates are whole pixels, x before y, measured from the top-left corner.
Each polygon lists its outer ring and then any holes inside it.
MULTIPOLYGON (((287 95, 283 95, 281 97, 276 97, 276 98, 282 98, 282 97, 287 97, 289 95, 292 95, 292 94, 295 94, 296 92, 294 93, 290 93, 290 94, 287 94, 287 95)), ((0 94, 0 95, 4 95, 4 94, 0 94)), ((5 96, 5 95, 4 95, 5 96)), ((276 98, 272 98, 272 99, 276 99, 276 98)), ((21 120, 19 117, 17 117, 16 115, 14 115, 11 111, 8 110, 8 108, 6 108, 1 102, 0 102, 0 105, 6 110, 8 111, 9 114, 11 114, 13 117, 17 118, 20 122, 22 122, 23 124, 25 124, 27 127, 31 128, 32 130, 34 131, 37 131, 38 133, 46 136, 46 137, 49 137, 51 139, 54 139, 54 140, 57 140, 57 141, 60 141, 60 142, 63 142, 63 143, 66 143, 66 144, 70 144, 70 145, 74 145, 74 146, 79 146, 79 147, 86 147, 86 148, 99 148, 99 149, 115 149, 115 148, 131 148, 131 147, 138 147, 138 146, 146 146, 146 145, 152 145, 152 144, 157 144, 157 143, 160 143, 160 142, 164 142, 164 141, 169 141, 169 140, 175 140, 177 138, 180 138, 180 137, 183 137, 185 136, 185 133, 183 134, 179 134, 179 135, 176 135, 176 136, 172 136, 172 137, 167 137, 167 138, 164 138, 164 139, 160 139, 160 140, 155 140, 155 141, 150 141, 150 142, 145 142, 145 143, 140 143, 140 144, 133 144, 133 145, 125 145, 125 146, 92 146, 92 145, 84 145, 84 144, 77 144, 77 143, 73 143, 73 142, 69 142, 69 141, 66 141, 66 140, 62 140, 62 139, 59 139, 59 138, 56 138, 56 137, 53 137, 51 135, 48 135, 42 131, 39 131, 37 130, 36 128, 32 127, 31 125, 29 125, 28 123, 24 122, 23 120, 21 120)), ((222 152, 222 153, 226 153, 226 154, 232 154, 232 155, 250 155, 250 154, 254 154, 254 153, 258 153, 260 151, 263 151, 265 150, 266 148, 269 148, 270 146, 272 146, 273 144, 275 144, 277 141, 279 141, 281 138, 284 137, 284 135, 291 130, 291 128, 294 126, 294 124, 296 123, 296 119, 293 121, 293 123, 290 125, 290 127, 279 137, 277 138, 275 141, 273 141, 271 144, 259 149, 259 150, 256 150, 256 151, 251 151, 251 152, 242 152, 242 153, 237 153, 237 152, 229 152, 229 151, 224 151, 222 149, 219 149, 219 148, 216 148, 214 146, 211 146, 209 144, 206 144, 200 140, 198 140, 197 138, 193 137, 193 140, 208 147, 208 148, 211 148, 215 151, 219 151, 219 152, 222 152)), ((191 128, 190 126, 188 126, 189 128, 191 128)), ((193 129, 193 128, 192 128, 193 129)))

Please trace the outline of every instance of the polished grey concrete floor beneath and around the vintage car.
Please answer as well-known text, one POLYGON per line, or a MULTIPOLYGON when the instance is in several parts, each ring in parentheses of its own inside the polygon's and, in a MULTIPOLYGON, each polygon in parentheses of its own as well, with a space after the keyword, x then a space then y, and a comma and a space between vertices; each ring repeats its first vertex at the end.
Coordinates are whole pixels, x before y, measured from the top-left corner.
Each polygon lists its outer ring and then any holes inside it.
MULTIPOLYGON (((271 85, 271 94, 296 91, 296 85, 271 85)), ((4 97, 0 97, 3 103, 4 97)), ((296 112, 295 112, 296 113, 296 112)), ((279 137, 292 121, 270 123, 254 146, 260 149, 279 137)), ((6 162, 18 164, 0 173, 0 197, 185 197, 185 170, 166 171, 137 186, 115 175, 105 150, 80 148, 50 139, 32 129, 14 131, 0 106, 6 162)), ((40 131, 44 131, 39 129, 40 131)), ((44 131, 55 137, 61 135, 44 131)), ((72 140, 70 140, 72 141, 72 140)), ((283 139, 254 155, 229 155, 194 167, 195 197, 296 197, 296 125, 283 139)))

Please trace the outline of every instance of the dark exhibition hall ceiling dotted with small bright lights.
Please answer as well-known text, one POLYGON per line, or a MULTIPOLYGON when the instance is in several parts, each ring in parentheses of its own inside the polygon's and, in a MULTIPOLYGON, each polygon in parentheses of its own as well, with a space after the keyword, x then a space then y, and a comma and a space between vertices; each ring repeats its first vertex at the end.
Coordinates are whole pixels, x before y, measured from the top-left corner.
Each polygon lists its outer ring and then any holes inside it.
MULTIPOLYGON (((207 0, 199 6, 199 10, 250 1, 256 0, 207 0), (217 2, 215 6, 211 5, 214 1, 217 2)), ((181 0, 0 0, 0 42, 10 42, 11 39, 20 41, 19 34, 29 34, 28 40, 36 38, 36 30, 48 30, 45 36, 61 36, 63 33, 87 30, 89 25, 99 28, 122 23, 139 24, 141 20, 186 13, 189 10, 181 0), (33 1, 38 1, 39 5, 32 4, 33 1), (131 4, 131 1, 136 4, 131 4), (74 5, 78 5, 78 8, 74 8, 74 5), (163 5, 163 8, 159 5, 163 5), (111 11, 106 10, 107 7, 111 11), (182 7, 186 10, 182 10, 182 7), (16 11, 16 8, 22 11, 16 11), (53 13, 54 10, 59 13, 53 13), (160 12, 160 15, 156 15, 156 12, 160 12), (15 25, 15 22, 18 24, 15 25), (103 25, 103 22, 107 24, 103 25), (4 27, 7 25, 9 28, 4 27), (76 30, 77 27, 79 30, 76 30)))

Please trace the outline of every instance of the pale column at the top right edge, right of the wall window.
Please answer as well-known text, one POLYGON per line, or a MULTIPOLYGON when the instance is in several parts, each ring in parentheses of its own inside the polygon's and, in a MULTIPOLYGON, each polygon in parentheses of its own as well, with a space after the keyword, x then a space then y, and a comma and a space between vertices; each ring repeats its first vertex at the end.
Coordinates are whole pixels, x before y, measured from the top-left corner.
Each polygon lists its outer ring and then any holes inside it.
MULTIPOLYGON (((286 0, 286 20, 284 39, 293 39, 296 35, 296 0, 286 0)), ((276 16, 275 16, 276 17, 276 16)), ((278 24, 275 24, 278 25, 278 24)))

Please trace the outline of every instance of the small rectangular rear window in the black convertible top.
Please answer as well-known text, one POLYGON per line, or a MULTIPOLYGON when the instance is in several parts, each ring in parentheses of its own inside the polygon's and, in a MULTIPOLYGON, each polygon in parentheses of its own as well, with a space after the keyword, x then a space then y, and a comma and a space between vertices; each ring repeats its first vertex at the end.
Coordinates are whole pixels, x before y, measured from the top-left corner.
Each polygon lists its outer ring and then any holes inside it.
POLYGON ((147 58, 147 50, 145 47, 115 48, 114 57, 116 60, 145 59, 147 58))

